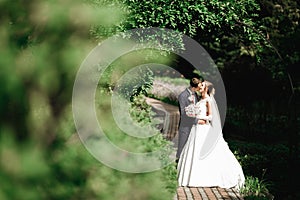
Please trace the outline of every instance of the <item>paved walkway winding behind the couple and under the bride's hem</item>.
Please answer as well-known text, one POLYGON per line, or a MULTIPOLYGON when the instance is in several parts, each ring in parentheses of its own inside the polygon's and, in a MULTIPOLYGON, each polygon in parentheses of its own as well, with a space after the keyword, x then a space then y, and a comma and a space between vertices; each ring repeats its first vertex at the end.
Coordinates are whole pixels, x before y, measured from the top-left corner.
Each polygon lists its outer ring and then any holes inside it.
MULTIPOLYGON (((177 106, 163 103, 156 99, 147 98, 152 106, 156 119, 160 122, 158 128, 165 138, 178 144, 179 110, 177 106)), ((173 200, 242 200, 242 196, 234 189, 219 187, 178 187, 173 200)))

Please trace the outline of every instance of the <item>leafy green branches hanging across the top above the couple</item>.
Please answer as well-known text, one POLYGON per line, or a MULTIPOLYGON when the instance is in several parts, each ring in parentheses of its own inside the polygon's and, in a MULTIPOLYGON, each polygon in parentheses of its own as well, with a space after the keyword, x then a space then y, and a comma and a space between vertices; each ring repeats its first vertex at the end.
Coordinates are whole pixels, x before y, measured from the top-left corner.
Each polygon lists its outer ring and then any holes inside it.
MULTIPOLYGON (((92 2, 97 4, 99 1, 92 2)), ((262 45, 266 45, 257 23, 260 6, 255 0, 118 0, 112 1, 112 4, 123 5, 122 10, 128 17, 115 24, 112 29, 94 27, 94 37, 101 38, 103 34, 107 34, 108 37, 119 31, 135 28, 160 27, 178 32, 163 35, 161 40, 155 43, 156 48, 167 51, 184 49, 182 33, 200 40, 202 44, 208 42, 212 45, 209 48, 217 48, 218 51, 222 51, 222 46, 226 45, 221 41, 228 38, 232 43, 238 43, 238 52, 242 51, 240 46, 243 46, 247 52, 255 54, 262 49, 262 45)), ((141 40, 151 40, 146 32, 143 35, 145 38, 143 36, 141 40)), ((227 51, 222 53, 227 54, 227 51)))

